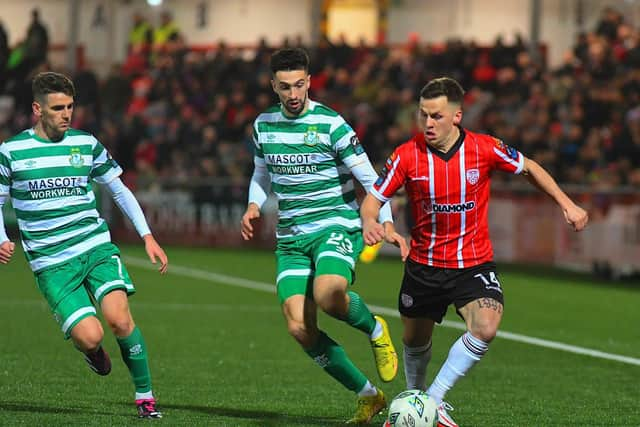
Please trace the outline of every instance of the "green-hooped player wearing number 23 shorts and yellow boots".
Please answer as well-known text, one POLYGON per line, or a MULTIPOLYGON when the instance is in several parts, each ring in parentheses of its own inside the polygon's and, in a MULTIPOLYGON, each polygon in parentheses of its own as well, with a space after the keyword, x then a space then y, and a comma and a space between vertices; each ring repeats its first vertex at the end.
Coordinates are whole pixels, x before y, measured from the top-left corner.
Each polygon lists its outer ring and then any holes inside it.
MULTIPOLYGON (((280 104, 254 123, 254 173, 241 233, 253 237, 252 221, 273 191, 278 298, 287 328, 304 351, 345 388, 357 393, 352 423, 369 423, 385 397, 351 362, 344 349, 318 329, 318 307, 367 334, 383 381, 398 370, 385 321, 373 316, 349 290, 363 239, 353 176, 369 189, 377 175, 353 129, 332 109, 308 97, 309 58, 302 49, 271 57, 272 86, 280 104)), ((408 253, 395 232, 388 205, 381 211, 385 238, 408 253)))

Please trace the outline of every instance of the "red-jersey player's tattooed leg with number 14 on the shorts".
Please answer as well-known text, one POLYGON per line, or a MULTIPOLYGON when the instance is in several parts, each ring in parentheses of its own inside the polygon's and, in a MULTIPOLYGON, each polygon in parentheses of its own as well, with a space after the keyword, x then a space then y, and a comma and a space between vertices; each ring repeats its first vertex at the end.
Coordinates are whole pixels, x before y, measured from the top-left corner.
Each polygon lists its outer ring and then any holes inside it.
MULTIPOLYGON (((465 271, 456 286, 455 304, 467 325, 465 332, 451 346, 447 360, 436 375, 427 393, 441 404, 445 394, 462 378, 489 349, 502 320, 504 299, 493 263, 482 264, 465 271)), ((445 426, 455 426, 453 420, 445 426)))

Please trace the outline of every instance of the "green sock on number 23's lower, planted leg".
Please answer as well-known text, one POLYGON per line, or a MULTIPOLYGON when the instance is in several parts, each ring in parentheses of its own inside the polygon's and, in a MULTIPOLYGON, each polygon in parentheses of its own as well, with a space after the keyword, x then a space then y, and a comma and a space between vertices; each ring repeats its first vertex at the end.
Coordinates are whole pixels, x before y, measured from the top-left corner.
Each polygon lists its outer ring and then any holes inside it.
POLYGON ((323 331, 320 331, 316 345, 305 351, 322 369, 354 393, 366 385, 367 377, 351 362, 344 349, 323 331))

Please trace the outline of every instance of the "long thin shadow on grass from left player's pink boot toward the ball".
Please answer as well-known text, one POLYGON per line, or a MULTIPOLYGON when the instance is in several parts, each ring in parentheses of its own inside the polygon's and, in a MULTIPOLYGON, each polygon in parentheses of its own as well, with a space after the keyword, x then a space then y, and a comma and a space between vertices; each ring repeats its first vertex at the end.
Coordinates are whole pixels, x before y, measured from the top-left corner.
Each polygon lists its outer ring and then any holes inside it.
POLYGON ((280 412, 251 409, 224 408, 215 406, 176 405, 163 402, 160 410, 178 409, 193 411, 216 417, 227 417, 260 422, 260 426, 309 425, 309 426, 344 426, 344 420, 329 417, 287 415, 280 412))

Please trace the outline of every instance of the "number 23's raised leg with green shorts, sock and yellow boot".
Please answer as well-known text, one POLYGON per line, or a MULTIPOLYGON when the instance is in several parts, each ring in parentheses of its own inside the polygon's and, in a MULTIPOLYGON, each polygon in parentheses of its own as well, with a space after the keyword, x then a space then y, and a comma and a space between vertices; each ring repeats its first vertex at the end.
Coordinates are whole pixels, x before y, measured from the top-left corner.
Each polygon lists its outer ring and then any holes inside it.
POLYGON ((373 316, 360 295, 347 291, 353 283, 355 262, 362 246, 361 233, 337 229, 319 237, 313 252, 316 265, 313 296, 324 312, 369 336, 378 374, 388 382, 398 372, 398 356, 387 324, 381 316, 373 316))

